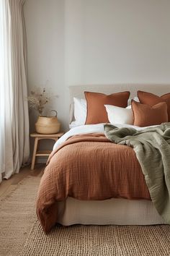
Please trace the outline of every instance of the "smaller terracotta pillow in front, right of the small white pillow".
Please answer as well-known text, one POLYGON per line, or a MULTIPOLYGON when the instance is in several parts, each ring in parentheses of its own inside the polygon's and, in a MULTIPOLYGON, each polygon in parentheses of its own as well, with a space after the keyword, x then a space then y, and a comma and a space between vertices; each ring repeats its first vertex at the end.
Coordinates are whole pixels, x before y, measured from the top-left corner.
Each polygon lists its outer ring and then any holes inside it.
POLYGON ((148 106, 132 100, 132 109, 133 124, 137 127, 148 127, 168 121, 167 104, 165 102, 148 106))

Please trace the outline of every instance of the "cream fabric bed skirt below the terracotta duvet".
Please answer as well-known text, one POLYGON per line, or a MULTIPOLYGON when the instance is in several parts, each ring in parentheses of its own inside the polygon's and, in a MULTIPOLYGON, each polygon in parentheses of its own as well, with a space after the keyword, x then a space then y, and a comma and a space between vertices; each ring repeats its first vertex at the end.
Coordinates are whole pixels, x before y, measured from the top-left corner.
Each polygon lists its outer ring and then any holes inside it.
POLYGON ((64 226, 85 225, 153 225, 163 224, 153 202, 149 200, 109 199, 83 201, 73 197, 58 202, 58 223, 64 226))

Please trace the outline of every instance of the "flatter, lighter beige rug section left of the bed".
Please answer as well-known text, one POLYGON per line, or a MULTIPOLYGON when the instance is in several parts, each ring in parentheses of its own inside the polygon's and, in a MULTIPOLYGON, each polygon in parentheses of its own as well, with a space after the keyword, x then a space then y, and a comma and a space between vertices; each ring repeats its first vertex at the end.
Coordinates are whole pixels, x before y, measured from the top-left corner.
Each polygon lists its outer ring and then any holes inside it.
POLYGON ((27 177, 12 185, 0 201, 0 255, 19 255, 36 220, 35 199, 40 177, 27 177))

